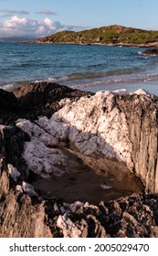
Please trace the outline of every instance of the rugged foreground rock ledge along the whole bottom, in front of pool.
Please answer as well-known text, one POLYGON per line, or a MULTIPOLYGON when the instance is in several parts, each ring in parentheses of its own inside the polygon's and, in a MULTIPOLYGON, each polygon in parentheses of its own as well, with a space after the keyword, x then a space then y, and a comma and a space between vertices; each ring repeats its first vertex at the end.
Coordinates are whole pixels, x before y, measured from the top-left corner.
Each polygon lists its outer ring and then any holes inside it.
POLYGON ((144 238, 158 236, 157 195, 133 194, 98 206, 32 203, 9 193, 0 202, 1 238, 144 238))

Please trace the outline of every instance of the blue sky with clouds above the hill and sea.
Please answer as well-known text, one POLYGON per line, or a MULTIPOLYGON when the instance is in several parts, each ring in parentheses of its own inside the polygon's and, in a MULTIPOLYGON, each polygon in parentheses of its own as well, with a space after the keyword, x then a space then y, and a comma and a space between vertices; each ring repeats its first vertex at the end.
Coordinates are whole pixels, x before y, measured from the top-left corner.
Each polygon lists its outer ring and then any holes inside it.
POLYGON ((158 30, 158 0, 0 0, 0 37, 121 25, 158 30))

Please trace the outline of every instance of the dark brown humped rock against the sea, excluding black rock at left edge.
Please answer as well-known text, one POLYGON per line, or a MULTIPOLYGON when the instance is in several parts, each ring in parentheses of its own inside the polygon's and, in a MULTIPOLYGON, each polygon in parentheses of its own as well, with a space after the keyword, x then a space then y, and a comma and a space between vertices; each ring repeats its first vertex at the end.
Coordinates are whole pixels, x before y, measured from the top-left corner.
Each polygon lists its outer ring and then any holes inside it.
POLYGON ((17 88, 13 93, 18 102, 30 112, 30 115, 35 114, 33 118, 37 118, 39 115, 50 117, 61 108, 58 102, 62 99, 69 98, 74 101, 82 96, 94 94, 47 81, 30 83, 17 88))

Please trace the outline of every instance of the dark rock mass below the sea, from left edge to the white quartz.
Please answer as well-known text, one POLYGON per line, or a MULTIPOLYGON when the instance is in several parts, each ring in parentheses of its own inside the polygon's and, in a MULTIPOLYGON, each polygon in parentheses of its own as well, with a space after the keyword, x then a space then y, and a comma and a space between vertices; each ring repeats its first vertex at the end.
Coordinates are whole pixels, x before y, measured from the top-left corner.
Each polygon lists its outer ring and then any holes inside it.
POLYGON ((51 82, 30 83, 13 92, 0 90, 0 123, 13 124, 18 118, 35 120, 41 115, 51 117, 61 108, 61 99, 75 101, 92 94, 51 82))

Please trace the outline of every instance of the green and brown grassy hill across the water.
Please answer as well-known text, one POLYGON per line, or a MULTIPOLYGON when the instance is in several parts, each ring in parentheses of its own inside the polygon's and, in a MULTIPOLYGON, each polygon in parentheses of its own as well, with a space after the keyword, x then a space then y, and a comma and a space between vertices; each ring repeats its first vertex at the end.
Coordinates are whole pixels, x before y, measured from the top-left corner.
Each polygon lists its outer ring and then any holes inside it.
POLYGON ((45 44, 105 44, 158 47, 158 31, 113 25, 79 32, 61 31, 31 42, 45 44))

